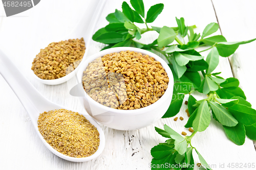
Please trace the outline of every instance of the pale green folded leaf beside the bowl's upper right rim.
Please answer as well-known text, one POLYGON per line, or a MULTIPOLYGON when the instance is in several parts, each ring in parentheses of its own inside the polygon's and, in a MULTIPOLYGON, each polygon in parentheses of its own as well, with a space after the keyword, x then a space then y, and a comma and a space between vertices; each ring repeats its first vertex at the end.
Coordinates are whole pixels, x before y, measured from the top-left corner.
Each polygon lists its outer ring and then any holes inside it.
POLYGON ((188 55, 188 54, 179 53, 179 52, 174 52, 174 56, 175 56, 176 62, 180 66, 186 65, 189 61, 197 61, 204 58, 203 56, 194 56, 194 55, 188 55))

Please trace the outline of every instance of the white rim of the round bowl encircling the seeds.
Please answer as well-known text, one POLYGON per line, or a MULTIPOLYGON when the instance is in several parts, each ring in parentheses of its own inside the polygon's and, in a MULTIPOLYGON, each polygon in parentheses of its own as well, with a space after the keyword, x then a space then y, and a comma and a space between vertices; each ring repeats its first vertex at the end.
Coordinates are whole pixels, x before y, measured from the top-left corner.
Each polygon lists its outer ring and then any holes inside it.
POLYGON ((150 57, 154 57, 156 61, 160 61, 162 67, 165 69, 168 77, 169 77, 169 83, 168 83, 168 87, 165 90, 165 93, 161 96, 161 98, 156 101, 155 103, 153 103, 150 106, 146 106, 143 108, 139 108, 139 109, 134 109, 134 110, 120 110, 120 109, 114 109, 114 108, 110 108, 110 107, 106 107, 104 105, 101 105, 100 103, 94 101, 87 93, 86 91, 84 91, 83 86, 79 86, 79 91, 82 90, 84 92, 84 96, 82 96, 82 98, 86 98, 88 100, 88 102, 92 102, 93 104, 95 104, 97 107, 101 108, 102 110, 106 110, 106 111, 111 111, 114 113, 119 113, 119 114, 127 114, 129 113, 129 115, 132 114, 140 114, 140 113, 144 113, 146 111, 151 111, 154 109, 154 107, 157 107, 157 105, 161 105, 162 101, 167 100, 167 98, 169 97, 169 95, 173 94, 173 87, 174 87, 174 79, 173 79, 173 73, 172 70, 169 68, 168 64, 158 55, 143 50, 141 48, 135 48, 135 47, 114 47, 114 48, 109 48, 103 51, 100 51, 90 57, 88 57, 86 60, 84 60, 82 63, 80 63, 80 67, 77 71, 77 78, 78 78, 78 83, 82 82, 82 76, 83 76, 83 71, 86 69, 86 67, 88 66, 89 62, 92 62, 93 60, 95 60, 98 57, 102 57, 105 54, 110 54, 110 53, 118 53, 121 51, 134 51, 137 53, 141 53, 142 55, 148 55, 150 57), (81 89, 82 88, 82 89, 81 89))

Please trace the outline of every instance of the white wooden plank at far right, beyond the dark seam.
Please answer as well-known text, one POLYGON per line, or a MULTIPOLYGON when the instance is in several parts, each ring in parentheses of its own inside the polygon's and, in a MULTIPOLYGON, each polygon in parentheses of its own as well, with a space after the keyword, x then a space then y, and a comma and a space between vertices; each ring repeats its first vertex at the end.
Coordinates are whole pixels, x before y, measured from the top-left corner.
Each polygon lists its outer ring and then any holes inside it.
MULTIPOLYGON (((256 1, 227 1, 212 0, 222 35, 228 41, 241 41, 256 38, 256 1)), ((233 76, 240 80, 240 87, 244 90, 252 108, 256 107, 255 75, 256 72, 256 42, 241 45, 235 54, 229 57, 233 76)), ((254 141, 256 145, 256 141, 254 141)))

